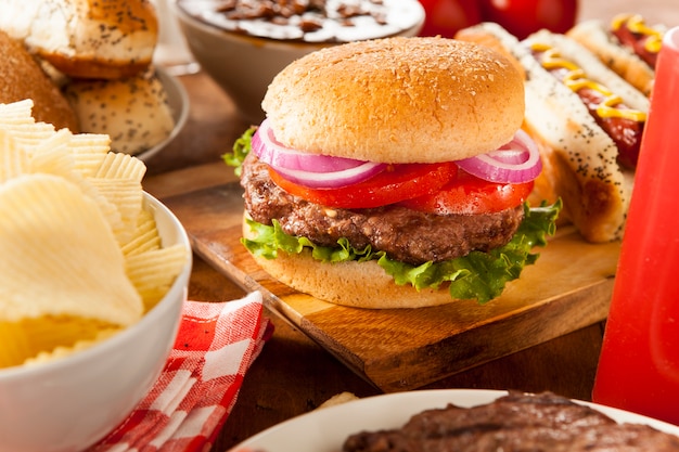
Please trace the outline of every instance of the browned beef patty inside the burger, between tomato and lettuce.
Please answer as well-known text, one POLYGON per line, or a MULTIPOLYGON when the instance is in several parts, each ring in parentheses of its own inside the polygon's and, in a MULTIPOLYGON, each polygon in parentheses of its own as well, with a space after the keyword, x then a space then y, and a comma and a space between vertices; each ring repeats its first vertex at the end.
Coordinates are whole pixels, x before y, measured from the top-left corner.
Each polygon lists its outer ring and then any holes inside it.
POLYGON ((434 215, 389 205, 370 209, 324 207, 294 196, 269 177, 252 153, 243 163, 245 209, 262 224, 278 220, 286 234, 317 245, 346 237, 356 249, 372 246, 411 264, 440 262, 507 244, 523 220, 523 206, 484 215, 434 215))

